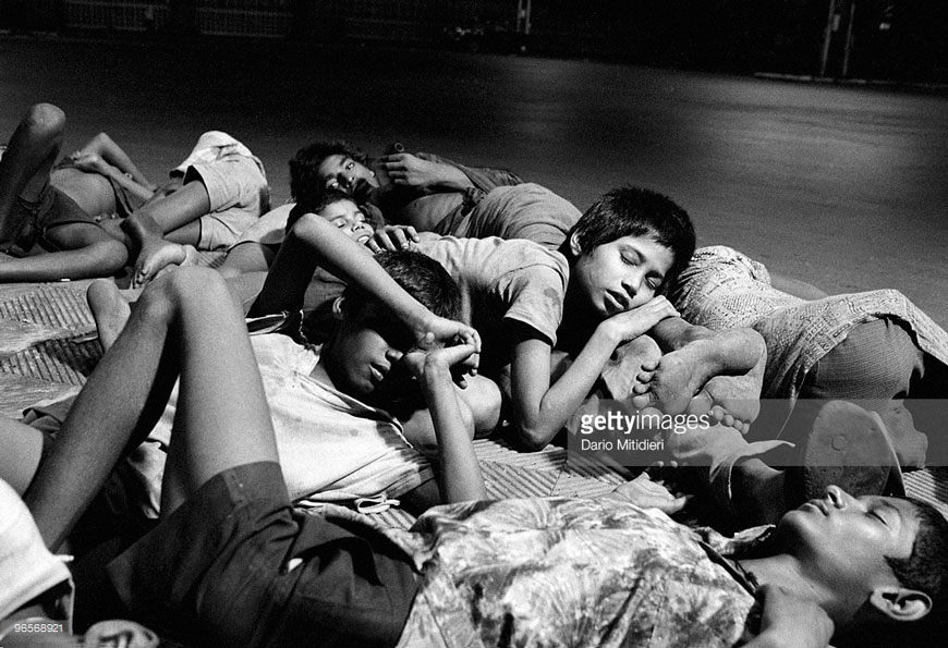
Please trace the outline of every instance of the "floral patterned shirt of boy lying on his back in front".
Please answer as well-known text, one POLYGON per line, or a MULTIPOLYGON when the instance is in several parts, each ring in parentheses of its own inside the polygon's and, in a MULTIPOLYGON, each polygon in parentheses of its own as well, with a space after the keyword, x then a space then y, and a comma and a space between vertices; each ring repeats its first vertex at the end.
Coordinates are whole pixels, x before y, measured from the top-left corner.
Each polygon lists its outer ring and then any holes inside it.
POLYGON ((703 537, 613 498, 438 506, 389 530, 425 578, 401 648, 732 646, 756 625, 753 589, 703 537))

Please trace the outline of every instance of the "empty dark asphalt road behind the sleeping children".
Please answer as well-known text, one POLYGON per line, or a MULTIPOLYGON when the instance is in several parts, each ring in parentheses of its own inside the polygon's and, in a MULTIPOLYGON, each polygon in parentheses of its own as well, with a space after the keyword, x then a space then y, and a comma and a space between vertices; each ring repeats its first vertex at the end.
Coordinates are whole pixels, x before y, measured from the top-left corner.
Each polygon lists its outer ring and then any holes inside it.
POLYGON ((948 326, 948 95, 624 64, 285 44, 0 37, 0 136, 29 103, 99 131, 161 178, 206 130, 265 162, 316 138, 390 142, 510 168, 585 208, 625 183, 669 194, 701 244, 827 292, 896 288, 948 326))

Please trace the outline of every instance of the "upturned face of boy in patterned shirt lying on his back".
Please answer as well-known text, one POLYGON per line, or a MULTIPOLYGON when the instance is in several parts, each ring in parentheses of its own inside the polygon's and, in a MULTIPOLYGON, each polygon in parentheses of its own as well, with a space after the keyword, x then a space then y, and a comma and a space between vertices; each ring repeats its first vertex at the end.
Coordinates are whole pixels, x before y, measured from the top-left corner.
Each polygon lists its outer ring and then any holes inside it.
POLYGON ((912 554, 919 519, 915 504, 908 500, 854 498, 830 486, 824 498, 786 514, 778 533, 811 574, 837 591, 859 596, 897 583, 885 558, 912 554))

